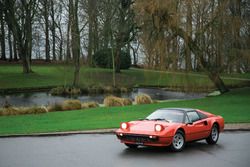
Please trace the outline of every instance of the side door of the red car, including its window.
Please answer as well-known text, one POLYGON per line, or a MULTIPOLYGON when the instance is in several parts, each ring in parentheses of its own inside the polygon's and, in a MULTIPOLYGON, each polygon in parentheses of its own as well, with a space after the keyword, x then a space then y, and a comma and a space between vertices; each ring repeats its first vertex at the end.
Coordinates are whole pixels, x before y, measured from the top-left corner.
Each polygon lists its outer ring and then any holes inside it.
POLYGON ((206 119, 201 119, 199 114, 194 111, 186 113, 186 141, 199 140, 207 137, 209 126, 206 119))

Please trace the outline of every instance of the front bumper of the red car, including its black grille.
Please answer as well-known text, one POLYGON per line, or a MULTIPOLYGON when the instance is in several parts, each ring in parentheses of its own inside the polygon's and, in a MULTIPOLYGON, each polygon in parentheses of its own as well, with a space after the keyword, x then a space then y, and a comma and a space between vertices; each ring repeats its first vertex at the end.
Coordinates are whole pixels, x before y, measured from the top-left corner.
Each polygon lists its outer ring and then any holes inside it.
POLYGON ((121 143, 144 146, 169 146, 173 137, 163 137, 147 134, 116 133, 121 143))

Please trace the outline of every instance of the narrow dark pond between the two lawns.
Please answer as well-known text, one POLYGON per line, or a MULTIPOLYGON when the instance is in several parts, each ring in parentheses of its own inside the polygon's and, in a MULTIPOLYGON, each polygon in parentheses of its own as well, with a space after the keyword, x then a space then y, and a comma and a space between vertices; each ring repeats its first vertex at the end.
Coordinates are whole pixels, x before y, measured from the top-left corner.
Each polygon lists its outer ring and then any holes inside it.
MULTIPOLYGON (((196 99, 205 97, 206 93, 187 93, 165 91, 158 88, 134 88, 132 92, 115 94, 118 97, 134 99, 136 95, 146 93, 153 100, 181 100, 181 99, 196 99)), ((0 95, 0 107, 8 103, 12 106, 41 106, 60 103, 67 99, 79 99, 82 102, 96 101, 103 103, 103 99, 108 94, 89 94, 80 95, 77 97, 70 96, 51 96, 48 92, 30 92, 30 93, 15 93, 8 95, 0 95)))

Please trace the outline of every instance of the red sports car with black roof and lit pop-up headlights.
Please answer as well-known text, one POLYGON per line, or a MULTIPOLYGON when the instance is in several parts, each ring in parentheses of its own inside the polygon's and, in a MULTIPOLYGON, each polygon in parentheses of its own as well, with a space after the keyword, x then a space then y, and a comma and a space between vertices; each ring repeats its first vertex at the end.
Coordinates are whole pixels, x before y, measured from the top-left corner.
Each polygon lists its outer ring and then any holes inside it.
POLYGON ((221 116, 190 108, 163 108, 146 119, 121 123, 116 135, 129 148, 170 146, 181 151, 186 142, 206 139, 216 144, 223 129, 221 116))

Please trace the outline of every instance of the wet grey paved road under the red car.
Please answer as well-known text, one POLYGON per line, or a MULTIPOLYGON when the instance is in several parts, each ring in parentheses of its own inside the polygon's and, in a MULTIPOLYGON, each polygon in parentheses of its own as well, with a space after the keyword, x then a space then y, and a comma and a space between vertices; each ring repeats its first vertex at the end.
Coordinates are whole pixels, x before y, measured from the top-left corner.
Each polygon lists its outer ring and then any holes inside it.
POLYGON ((225 132, 219 143, 127 149, 114 135, 0 138, 0 167, 248 167, 250 132, 225 132))

